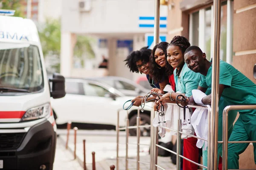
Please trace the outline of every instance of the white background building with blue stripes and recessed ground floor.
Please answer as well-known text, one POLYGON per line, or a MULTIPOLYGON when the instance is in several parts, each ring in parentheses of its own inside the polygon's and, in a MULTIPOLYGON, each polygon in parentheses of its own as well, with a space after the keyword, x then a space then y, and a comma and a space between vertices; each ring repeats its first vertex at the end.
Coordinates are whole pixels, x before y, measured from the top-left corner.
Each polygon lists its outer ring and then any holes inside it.
MULTIPOLYGON (((160 32, 166 35, 167 6, 161 6, 160 32)), ((61 17, 61 74, 100 76, 102 70, 73 68, 73 47, 77 35, 97 39, 96 58, 108 58, 108 75, 135 80, 125 58, 145 46, 145 34, 154 33, 154 0, 64 0, 61 17)), ((146 38, 147 39, 147 38, 146 38)), ((150 39, 150 38, 149 38, 150 39)), ((154 44, 151 42, 151 44, 154 44)), ((85 61, 86 62, 86 61, 85 61)))

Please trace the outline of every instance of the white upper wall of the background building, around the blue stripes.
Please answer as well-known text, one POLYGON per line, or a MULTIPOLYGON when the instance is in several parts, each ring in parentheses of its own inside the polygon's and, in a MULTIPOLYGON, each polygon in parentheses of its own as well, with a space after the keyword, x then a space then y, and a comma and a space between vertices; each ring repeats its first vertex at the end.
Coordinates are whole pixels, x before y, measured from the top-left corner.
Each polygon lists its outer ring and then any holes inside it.
MULTIPOLYGON (((91 0, 91 6, 90 12, 79 12, 79 0, 63 0, 62 30, 120 36, 154 31, 139 28, 139 16, 154 16, 154 0, 91 0)), ((167 16, 167 6, 161 6, 161 16, 167 16)))

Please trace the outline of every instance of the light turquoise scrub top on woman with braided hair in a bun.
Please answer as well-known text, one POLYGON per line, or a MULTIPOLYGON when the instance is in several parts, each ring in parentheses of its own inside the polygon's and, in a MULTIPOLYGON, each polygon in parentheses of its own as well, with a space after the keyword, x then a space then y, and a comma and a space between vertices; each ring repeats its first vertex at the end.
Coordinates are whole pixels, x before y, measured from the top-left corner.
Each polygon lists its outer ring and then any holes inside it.
POLYGON ((198 88, 201 74, 193 72, 188 68, 186 64, 184 64, 179 77, 177 76, 176 72, 177 72, 177 69, 175 69, 173 72, 176 91, 185 93, 187 97, 192 96, 192 90, 198 88))

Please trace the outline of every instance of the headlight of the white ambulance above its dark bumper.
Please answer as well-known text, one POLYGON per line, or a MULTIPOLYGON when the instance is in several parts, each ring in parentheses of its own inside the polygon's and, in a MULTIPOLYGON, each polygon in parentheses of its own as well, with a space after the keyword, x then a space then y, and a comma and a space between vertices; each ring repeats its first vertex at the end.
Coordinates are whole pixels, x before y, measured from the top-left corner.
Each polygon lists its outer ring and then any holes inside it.
POLYGON ((39 107, 33 107, 26 111, 26 113, 21 118, 21 121, 29 121, 44 117, 49 117, 51 114, 51 107, 50 104, 44 104, 39 107))

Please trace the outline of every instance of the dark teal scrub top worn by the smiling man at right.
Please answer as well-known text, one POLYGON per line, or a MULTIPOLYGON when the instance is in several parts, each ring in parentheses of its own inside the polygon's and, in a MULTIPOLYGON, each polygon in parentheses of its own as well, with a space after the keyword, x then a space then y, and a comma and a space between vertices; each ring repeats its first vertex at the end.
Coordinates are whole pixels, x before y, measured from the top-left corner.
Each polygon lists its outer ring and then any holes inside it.
MULTIPOLYGON (((256 84, 232 65, 221 60, 219 84, 225 85, 221 97, 229 105, 256 104, 256 84)), ((206 76, 201 76, 199 86, 204 88, 212 86, 212 66, 206 76)), ((256 110, 239 110, 239 113, 244 121, 256 120, 256 110)))

